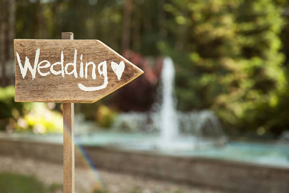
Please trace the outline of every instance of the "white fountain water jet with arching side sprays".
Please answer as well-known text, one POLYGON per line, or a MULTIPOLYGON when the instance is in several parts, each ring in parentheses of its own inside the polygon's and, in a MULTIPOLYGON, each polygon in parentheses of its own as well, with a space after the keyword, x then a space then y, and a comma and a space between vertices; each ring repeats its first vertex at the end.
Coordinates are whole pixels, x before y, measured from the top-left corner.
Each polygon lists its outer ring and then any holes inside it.
POLYGON ((157 111, 150 113, 121 113, 113 127, 122 131, 154 133, 160 135, 146 141, 126 143, 143 149, 192 150, 221 145, 226 142, 225 134, 213 111, 178 112, 174 90, 175 68, 172 59, 166 57, 161 72, 160 90, 162 100, 157 111), (138 144, 138 145, 136 145, 138 144))

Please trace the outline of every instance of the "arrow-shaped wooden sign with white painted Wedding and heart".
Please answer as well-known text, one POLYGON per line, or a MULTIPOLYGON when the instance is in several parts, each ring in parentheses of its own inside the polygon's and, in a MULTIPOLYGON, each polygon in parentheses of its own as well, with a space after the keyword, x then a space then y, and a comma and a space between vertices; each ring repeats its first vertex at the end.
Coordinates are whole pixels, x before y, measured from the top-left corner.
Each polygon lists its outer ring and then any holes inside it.
POLYGON ((15 101, 93 103, 143 73, 99 40, 14 40, 15 101))

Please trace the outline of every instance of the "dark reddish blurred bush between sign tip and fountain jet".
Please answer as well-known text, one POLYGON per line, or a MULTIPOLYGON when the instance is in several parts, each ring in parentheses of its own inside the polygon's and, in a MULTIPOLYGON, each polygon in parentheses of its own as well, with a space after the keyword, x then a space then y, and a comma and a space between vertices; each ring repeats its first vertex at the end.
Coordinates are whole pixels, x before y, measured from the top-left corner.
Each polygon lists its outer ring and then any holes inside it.
POLYGON ((133 53, 126 58, 141 68, 144 74, 117 90, 110 103, 114 103, 118 110, 124 112, 150 111, 157 101, 158 77, 163 59, 152 59, 139 53, 133 53))

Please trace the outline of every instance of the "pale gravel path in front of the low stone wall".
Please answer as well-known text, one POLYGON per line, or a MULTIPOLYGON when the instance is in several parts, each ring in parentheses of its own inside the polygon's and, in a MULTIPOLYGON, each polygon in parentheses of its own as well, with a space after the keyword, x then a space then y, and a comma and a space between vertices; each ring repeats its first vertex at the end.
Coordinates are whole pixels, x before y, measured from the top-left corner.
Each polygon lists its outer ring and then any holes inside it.
MULTIPOLYGON (((46 184, 62 184, 63 182, 62 165, 27 158, 15 159, 0 156, 0 172, 4 171, 34 175, 46 184)), ((105 187, 107 193, 221 193, 212 189, 177 184, 143 176, 132 176, 105 170, 94 172, 90 168, 83 167, 75 168, 76 192, 93 193, 93 190, 101 187, 105 187)))

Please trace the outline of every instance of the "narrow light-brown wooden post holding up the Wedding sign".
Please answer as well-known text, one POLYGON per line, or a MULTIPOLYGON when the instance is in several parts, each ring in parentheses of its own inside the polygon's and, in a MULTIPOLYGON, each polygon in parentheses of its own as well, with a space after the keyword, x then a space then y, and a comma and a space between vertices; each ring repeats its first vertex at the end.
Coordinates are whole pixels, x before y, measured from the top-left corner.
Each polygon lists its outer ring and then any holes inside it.
MULTIPOLYGON (((61 33, 61 39, 73 40, 73 33, 61 33)), ((74 103, 62 103, 63 109, 63 192, 74 193, 74 103)))

